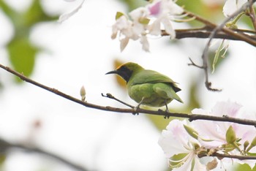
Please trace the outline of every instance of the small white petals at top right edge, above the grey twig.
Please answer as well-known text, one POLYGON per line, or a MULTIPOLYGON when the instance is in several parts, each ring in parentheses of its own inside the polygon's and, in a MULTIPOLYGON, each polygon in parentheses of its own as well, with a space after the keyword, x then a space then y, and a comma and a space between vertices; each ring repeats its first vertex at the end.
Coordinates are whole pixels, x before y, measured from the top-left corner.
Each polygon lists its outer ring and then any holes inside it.
POLYGON ((247 0, 227 0, 223 7, 225 17, 232 15, 236 10, 240 9, 247 0))

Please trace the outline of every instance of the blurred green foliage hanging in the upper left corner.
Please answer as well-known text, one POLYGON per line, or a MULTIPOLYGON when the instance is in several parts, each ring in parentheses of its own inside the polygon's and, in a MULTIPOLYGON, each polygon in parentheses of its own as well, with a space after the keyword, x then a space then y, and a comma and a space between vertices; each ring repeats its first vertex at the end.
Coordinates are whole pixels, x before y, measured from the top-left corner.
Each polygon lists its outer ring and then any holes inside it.
POLYGON ((14 27, 14 35, 7 44, 10 62, 16 71, 29 76, 33 72, 36 55, 41 50, 29 39, 31 28, 40 22, 57 20, 58 16, 45 13, 39 0, 32 1, 25 12, 15 11, 4 0, 0 0, 0 7, 14 27))

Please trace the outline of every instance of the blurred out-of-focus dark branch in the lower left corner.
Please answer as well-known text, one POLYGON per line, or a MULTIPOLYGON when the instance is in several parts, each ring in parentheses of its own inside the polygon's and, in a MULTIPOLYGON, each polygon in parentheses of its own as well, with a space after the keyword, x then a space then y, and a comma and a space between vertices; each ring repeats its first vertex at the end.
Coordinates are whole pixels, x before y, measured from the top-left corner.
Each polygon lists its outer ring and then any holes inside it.
POLYGON ((52 159, 55 159, 56 161, 61 161, 63 164, 66 164, 68 167, 72 167, 75 170, 87 171, 87 169, 85 167, 80 166, 79 164, 75 164, 72 161, 64 159, 63 157, 58 156, 54 153, 50 153, 50 152, 42 150, 40 148, 29 147, 27 145, 22 145, 19 143, 7 142, 0 138, 0 152, 1 153, 2 152, 7 153, 7 151, 12 148, 18 148, 18 149, 21 149, 23 151, 30 152, 30 153, 39 153, 39 154, 48 156, 52 159))

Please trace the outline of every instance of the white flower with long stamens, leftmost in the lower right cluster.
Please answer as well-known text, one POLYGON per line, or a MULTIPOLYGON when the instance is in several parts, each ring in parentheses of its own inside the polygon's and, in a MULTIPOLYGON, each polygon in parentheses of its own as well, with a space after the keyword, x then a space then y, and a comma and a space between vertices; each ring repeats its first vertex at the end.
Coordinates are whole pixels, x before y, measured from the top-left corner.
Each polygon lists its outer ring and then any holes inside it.
POLYGON ((159 145, 169 159, 173 170, 206 170, 201 164, 197 153, 200 152, 200 143, 189 136, 184 125, 186 121, 173 120, 162 131, 159 145))

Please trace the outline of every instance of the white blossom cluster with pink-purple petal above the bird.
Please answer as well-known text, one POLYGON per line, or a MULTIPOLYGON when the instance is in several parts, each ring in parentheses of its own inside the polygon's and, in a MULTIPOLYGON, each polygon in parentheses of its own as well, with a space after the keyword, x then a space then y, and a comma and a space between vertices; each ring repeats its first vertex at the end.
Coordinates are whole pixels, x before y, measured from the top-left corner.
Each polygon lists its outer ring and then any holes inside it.
POLYGON ((167 34, 170 34, 171 38, 175 38, 176 33, 171 21, 181 18, 183 12, 184 9, 173 0, 151 1, 145 7, 132 10, 128 16, 117 12, 111 38, 116 39, 118 34, 121 51, 127 46, 129 39, 140 39, 143 50, 149 51, 148 34, 161 35, 161 26, 163 26, 167 34))

